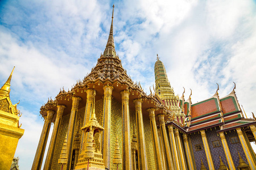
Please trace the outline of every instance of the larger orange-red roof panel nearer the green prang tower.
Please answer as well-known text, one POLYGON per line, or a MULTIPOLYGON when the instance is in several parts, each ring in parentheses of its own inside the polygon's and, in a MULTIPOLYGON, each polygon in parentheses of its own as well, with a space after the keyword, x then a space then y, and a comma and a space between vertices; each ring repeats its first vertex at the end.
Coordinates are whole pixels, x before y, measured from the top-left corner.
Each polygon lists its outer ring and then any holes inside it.
POLYGON ((201 101, 200 103, 193 104, 191 108, 191 116, 193 119, 219 111, 220 108, 218 106, 217 99, 211 98, 205 101, 201 101))

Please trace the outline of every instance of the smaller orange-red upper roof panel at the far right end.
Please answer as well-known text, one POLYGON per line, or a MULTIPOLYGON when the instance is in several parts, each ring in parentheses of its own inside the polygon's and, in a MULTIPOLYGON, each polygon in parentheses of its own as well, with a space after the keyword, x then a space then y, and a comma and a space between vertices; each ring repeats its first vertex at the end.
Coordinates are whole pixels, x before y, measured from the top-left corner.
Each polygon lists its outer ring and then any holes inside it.
POLYGON ((221 108, 224 115, 239 111, 236 103, 236 99, 234 99, 233 96, 225 97, 224 99, 221 99, 220 102, 221 102, 221 108))

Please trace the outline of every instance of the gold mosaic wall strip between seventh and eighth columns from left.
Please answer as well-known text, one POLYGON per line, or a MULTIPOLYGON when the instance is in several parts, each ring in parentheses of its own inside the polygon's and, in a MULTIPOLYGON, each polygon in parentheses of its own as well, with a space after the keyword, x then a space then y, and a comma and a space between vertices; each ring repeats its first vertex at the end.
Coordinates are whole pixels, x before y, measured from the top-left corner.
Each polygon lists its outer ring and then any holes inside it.
POLYGON ((153 150, 152 134, 150 128, 150 119, 148 116, 143 117, 144 135, 146 143, 146 154, 147 154, 147 167, 148 169, 155 169, 155 156, 153 150))

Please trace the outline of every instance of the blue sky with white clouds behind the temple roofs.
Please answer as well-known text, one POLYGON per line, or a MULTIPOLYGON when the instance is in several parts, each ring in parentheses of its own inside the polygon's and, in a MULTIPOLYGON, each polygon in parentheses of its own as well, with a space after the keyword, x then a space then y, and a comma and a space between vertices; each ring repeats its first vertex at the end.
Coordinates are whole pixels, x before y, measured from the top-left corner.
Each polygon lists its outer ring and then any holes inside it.
POLYGON ((15 153, 20 169, 32 166, 42 104, 83 79, 104 52, 113 3, 115 49, 147 94, 158 53, 176 94, 184 87, 187 99, 191 88, 196 103, 212 96, 216 83, 223 97, 236 82, 247 116, 256 113, 255 1, 2 0, 0 83, 15 66, 11 100, 20 100, 25 129, 15 153))

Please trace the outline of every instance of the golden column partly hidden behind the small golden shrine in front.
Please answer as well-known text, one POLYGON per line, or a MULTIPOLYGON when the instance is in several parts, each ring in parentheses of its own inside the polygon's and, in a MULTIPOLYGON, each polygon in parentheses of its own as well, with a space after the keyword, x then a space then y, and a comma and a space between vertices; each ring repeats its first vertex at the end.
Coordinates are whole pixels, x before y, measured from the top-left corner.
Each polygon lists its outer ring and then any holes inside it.
MULTIPOLYGON (((92 116, 94 91, 95 90, 92 88, 89 88, 86 90, 87 97, 86 97, 86 106, 85 106, 85 113, 84 113, 84 124, 82 125, 82 127, 84 127, 86 124, 89 123, 90 116, 92 116)), ((86 133, 86 134, 82 133, 79 154, 81 154, 81 152, 84 150, 84 145, 86 147, 87 135, 88 135, 88 133, 86 133)))

